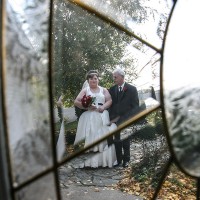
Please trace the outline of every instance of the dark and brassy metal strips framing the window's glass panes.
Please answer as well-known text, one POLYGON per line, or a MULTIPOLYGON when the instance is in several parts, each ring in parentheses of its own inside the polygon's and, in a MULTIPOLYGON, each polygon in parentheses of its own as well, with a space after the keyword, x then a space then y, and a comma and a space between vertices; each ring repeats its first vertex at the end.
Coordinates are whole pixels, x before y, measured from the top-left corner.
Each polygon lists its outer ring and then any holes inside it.
MULTIPOLYGON (((165 35, 164 35, 164 40, 163 40, 163 45, 161 49, 157 49, 156 47, 154 47, 152 44, 148 43, 147 41, 139 38, 137 35, 133 34, 132 32, 126 30, 124 27, 122 27, 121 25, 117 24, 116 22, 112 21, 111 19, 108 19, 106 16, 102 15, 100 12, 98 12, 97 10, 94 10, 88 6, 86 6, 84 3, 78 1, 78 0, 68 0, 71 3, 76 4, 77 6, 80 6, 82 8, 84 8, 86 11, 95 14, 97 17, 103 19, 105 22, 111 24, 112 26, 114 26, 115 28, 125 32, 127 35, 136 38, 137 40, 139 40, 140 42, 142 42, 143 44, 147 45, 148 47, 154 49, 157 53, 159 53, 161 55, 161 72, 160 72, 160 99, 161 99, 161 104, 154 107, 153 109, 150 109, 148 111, 143 111, 141 113, 139 113, 137 116, 134 116, 133 118, 131 118, 130 120, 126 121, 125 123, 123 123, 122 125, 120 125, 118 127, 117 131, 120 131, 128 126, 130 126, 131 124, 133 124, 134 122, 140 120, 142 117, 158 110, 161 109, 162 110, 162 117, 163 117, 163 122, 164 122, 164 128, 165 131, 168 131, 167 128, 167 123, 166 123, 166 117, 165 117, 165 108, 164 108, 164 99, 163 99, 163 49, 164 49, 164 43, 166 40, 166 34, 167 34, 167 29, 171 20, 171 16, 175 7, 175 4, 177 1, 174 1, 174 5, 173 8, 170 12, 170 16, 169 16, 169 20, 167 22, 167 27, 166 27, 166 31, 165 31, 165 35)), ((4 100, 4 81, 3 81, 3 59, 4 59, 4 49, 3 49, 3 33, 2 33, 2 29, 3 29, 3 20, 4 20, 4 16, 5 16, 5 0, 0 0, 0 7, 1 7, 1 16, 0 16, 0 48, 1 48, 1 54, 0 54, 0 109, 1 109, 1 113, 0 113, 0 177, 1 177, 1 181, 0 181, 0 199, 7 199, 7 200, 14 200, 15 199, 15 192, 19 191, 20 189, 22 189, 23 187, 27 186, 28 184, 42 178, 43 176, 52 173, 54 174, 54 179, 55 179, 55 185, 56 185, 56 193, 57 193, 57 199, 60 200, 61 199, 61 194, 60 194, 60 188, 59 188, 59 177, 58 177, 58 168, 60 166, 62 166, 63 164, 67 163, 68 161, 70 161, 71 159, 81 155, 82 153, 84 153, 85 151, 87 151, 88 149, 90 149, 91 147, 95 146, 96 144, 98 144, 99 142, 102 142, 103 140, 105 140, 107 137, 114 135, 116 133, 116 131, 111 132, 108 136, 105 136, 103 138, 101 138, 100 140, 96 141, 95 143, 88 145, 85 149, 82 149, 72 155, 70 155, 69 157, 67 157, 66 159, 62 160, 61 162, 57 162, 57 155, 56 155, 56 148, 55 148, 55 139, 54 139, 54 113, 53 113, 53 101, 52 101, 52 97, 53 97, 53 93, 52 93, 52 40, 53 40, 53 36, 52 36, 52 21, 53 21, 53 0, 50 0, 50 16, 49 16, 49 49, 48 49, 48 55, 49 55, 49 102, 50 102, 50 120, 51 120, 51 137, 52 137, 52 149, 53 149, 53 166, 46 169, 45 171, 38 173, 37 175, 31 177, 30 179, 24 181, 23 183, 17 185, 17 186, 13 186, 12 184, 12 176, 11 176, 11 164, 10 164, 10 155, 9 155, 9 147, 8 147, 8 138, 7 138, 7 129, 6 129, 6 112, 5 112, 5 100, 4 100)), ((169 141, 170 138, 168 137, 169 134, 167 134, 167 140, 169 141)), ((169 142, 168 142, 169 143, 169 142)), ((170 147, 172 148, 172 147, 170 147)), ((166 167, 163 171, 163 176, 160 179, 160 182, 155 190, 154 196, 152 199, 156 199, 159 191, 162 188, 163 182, 167 176, 167 173, 169 171, 170 166, 172 165, 172 163, 176 163, 176 161, 174 160, 174 156, 173 153, 168 161, 168 163, 166 164, 166 167)), ((178 163, 176 163, 178 165, 178 163)), ((178 165, 179 166, 179 165, 178 165)), ((179 166, 180 167, 180 166, 179 166)), ((181 169, 181 167, 180 167, 181 169)), ((200 197, 200 179, 197 179, 197 193, 196 193, 196 198, 199 199, 200 197)))

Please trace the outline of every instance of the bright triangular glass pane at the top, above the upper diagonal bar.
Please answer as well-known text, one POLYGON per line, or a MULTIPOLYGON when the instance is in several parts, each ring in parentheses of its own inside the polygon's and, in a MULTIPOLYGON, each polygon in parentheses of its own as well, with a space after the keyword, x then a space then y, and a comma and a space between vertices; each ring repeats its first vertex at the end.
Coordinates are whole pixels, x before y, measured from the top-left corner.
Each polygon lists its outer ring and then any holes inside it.
POLYGON ((172 7, 171 0, 83 0, 77 2, 95 9, 153 46, 161 48, 166 22, 172 7))

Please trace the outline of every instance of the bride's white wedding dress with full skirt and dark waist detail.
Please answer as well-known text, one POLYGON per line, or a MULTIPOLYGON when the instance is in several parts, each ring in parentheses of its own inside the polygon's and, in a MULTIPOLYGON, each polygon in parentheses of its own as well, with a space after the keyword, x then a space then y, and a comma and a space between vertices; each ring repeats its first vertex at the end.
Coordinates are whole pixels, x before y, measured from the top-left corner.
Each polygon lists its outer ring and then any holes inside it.
MULTIPOLYGON (((86 95, 96 97, 94 104, 98 107, 99 104, 105 103, 105 96, 103 94, 103 88, 99 86, 98 93, 92 93, 90 87, 86 88, 86 95)), ((103 113, 97 111, 85 111, 79 118, 77 127, 77 133, 74 145, 79 142, 85 141, 84 146, 87 146, 94 141, 102 138, 102 136, 117 129, 115 124, 107 126, 110 123, 109 113, 104 110, 103 113)), ((113 167, 117 163, 116 152, 114 144, 108 146, 107 141, 103 141, 100 144, 94 146, 89 150, 90 152, 96 152, 90 158, 86 159, 84 163, 81 163, 78 167, 113 167)))

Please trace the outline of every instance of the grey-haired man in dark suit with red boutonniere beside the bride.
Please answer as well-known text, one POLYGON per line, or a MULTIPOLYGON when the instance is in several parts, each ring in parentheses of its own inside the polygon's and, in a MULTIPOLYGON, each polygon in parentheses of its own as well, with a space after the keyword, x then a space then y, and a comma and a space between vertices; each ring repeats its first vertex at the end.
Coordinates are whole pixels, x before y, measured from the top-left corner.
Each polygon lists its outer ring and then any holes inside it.
MULTIPOLYGON (((115 85, 109 89, 112 97, 112 105, 109 108, 111 122, 120 125, 133 115, 139 108, 139 98, 136 87, 124 80, 125 73, 117 68, 113 71, 115 85)), ((120 132, 114 136, 118 166, 128 167, 130 161, 130 139, 120 139, 120 132)))

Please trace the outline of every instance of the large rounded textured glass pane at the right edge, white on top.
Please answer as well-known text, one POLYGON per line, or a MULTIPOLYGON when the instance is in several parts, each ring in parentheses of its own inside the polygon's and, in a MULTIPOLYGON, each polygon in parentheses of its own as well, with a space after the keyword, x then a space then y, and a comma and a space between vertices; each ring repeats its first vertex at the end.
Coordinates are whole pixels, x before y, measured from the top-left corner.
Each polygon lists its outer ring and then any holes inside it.
POLYGON ((164 101, 174 153, 180 165, 200 176, 200 30, 198 0, 177 3, 164 52, 164 101), (185 15, 190 11, 189 15, 185 15))

